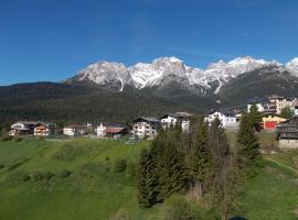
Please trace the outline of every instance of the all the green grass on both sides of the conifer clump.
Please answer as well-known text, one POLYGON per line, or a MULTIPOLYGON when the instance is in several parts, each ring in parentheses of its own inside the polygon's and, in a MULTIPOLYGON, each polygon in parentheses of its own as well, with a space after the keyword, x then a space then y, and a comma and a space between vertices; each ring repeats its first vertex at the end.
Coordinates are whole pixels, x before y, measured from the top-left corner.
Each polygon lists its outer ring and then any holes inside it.
MULTIPOLYGON (((141 148, 120 141, 26 139, 0 142, 0 219, 160 219, 163 205, 141 209, 135 173, 141 148), (118 162, 127 167, 118 170, 118 162), (118 170, 118 172, 117 172, 118 170)), ((297 219, 298 152, 265 156, 265 166, 238 198, 235 215, 248 219, 297 219)))

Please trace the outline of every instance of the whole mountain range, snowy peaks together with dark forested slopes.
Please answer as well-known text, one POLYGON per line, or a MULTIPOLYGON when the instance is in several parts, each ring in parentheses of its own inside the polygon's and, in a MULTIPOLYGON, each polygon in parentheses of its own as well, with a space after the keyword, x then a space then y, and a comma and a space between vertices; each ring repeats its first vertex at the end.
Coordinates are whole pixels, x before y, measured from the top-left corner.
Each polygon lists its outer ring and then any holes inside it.
POLYGON ((283 65, 246 56, 204 69, 175 57, 129 67, 102 61, 61 82, 0 87, 0 122, 129 122, 173 111, 244 108, 249 98, 274 94, 298 96, 298 58, 283 65))

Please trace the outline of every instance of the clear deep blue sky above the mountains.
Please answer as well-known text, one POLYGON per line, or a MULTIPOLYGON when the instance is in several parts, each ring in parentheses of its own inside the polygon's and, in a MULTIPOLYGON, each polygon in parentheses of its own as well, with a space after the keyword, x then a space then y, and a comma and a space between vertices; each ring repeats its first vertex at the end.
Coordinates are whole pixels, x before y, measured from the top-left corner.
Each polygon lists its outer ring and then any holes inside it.
POLYGON ((297 0, 0 0, 0 86, 60 81, 103 59, 286 63, 297 13, 297 0))

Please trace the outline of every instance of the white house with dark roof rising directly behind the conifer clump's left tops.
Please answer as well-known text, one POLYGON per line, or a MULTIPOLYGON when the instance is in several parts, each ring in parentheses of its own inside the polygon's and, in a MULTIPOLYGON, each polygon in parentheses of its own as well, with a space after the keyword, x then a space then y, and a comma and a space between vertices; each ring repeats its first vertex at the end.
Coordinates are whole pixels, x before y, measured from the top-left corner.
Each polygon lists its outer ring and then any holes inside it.
POLYGON ((170 128, 171 125, 175 125, 177 123, 181 124, 182 131, 189 131, 190 120, 193 114, 188 112, 175 112, 168 113, 160 118, 160 122, 163 129, 170 128))

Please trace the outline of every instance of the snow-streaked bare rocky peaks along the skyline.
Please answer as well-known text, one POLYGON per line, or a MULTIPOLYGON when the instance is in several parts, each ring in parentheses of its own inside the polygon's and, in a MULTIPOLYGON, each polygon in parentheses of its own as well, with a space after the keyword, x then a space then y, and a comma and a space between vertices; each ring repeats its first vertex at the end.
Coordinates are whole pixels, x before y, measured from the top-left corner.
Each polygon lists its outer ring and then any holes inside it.
POLYGON ((254 59, 251 56, 237 57, 228 63, 219 61, 210 64, 205 69, 187 66, 177 57, 161 57, 151 64, 138 63, 126 67, 120 63, 98 62, 82 69, 65 82, 92 82, 94 85, 114 88, 123 91, 126 87, 134 89, 161 88, 171 84, 181 84, 193 92, 219 94, 222 86, 231 79, 245 73, 275 66, 298 76, 298 58, 283 66, 273 61, 254 59))

